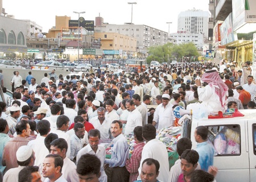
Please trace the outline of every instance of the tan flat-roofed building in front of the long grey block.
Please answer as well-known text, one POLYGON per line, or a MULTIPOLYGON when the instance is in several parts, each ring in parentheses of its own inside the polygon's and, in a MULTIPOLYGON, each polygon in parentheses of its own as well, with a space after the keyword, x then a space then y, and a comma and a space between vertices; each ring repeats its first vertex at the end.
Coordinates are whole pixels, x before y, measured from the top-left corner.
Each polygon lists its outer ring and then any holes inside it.
MULTIPOLYGON (((117 50, 120 57, 127 57, 132 54, 136 57, 137 40, 134 37, 129 37, 119 33, 111 32, 94 32, 95 39, 101 39, 101 49, 104 50, 117 50)), ((106 56, 108 54, 105 53, 106 56)), ((114 56, 116 57, 116 56, 114 56)))

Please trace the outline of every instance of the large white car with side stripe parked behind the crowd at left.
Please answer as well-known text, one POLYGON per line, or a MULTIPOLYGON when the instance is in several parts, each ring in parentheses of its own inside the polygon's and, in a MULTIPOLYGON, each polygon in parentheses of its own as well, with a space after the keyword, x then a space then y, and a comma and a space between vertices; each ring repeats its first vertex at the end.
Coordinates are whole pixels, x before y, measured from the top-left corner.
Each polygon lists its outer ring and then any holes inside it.
POLYGON ((31 67, 32 70, 58 70, 58 71, 69 71, 67 67, 57 61, 42 61, 31 67))

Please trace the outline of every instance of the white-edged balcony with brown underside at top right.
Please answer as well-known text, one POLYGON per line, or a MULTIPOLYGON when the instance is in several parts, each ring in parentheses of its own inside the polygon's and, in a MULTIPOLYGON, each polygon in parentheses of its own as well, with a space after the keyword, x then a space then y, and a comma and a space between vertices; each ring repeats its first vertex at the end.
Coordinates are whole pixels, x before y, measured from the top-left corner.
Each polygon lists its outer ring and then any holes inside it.
POLYGON ((220 0, 215 8, 216 20, 224 21, 232 12, 232 0, 220 0))

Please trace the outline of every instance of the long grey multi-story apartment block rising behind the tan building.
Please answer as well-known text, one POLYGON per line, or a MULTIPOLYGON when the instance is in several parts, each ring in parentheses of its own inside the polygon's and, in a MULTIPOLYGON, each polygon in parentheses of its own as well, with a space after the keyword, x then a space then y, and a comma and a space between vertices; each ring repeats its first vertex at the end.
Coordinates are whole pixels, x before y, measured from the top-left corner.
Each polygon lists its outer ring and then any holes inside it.
POLYGON ((132 52, 137 57, 147 56, 147 50, 153 45, 164 45, 168 43, 168 32, 161 31, 146 25, 135 25, 126 23, 123 25, 103 23, 103 18, 96 17, 95 32, 118 33, 121 35, 134 37, 137 40, 136 52, 132 52))

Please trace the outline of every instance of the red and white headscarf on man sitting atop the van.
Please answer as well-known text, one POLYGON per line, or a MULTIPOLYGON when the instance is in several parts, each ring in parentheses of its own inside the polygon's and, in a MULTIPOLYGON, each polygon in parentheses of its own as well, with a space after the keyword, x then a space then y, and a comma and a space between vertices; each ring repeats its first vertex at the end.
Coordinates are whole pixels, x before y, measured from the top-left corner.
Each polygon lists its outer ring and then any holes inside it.
POLYGON ((210 87, 215 88, 215 93, 220 97, 221 107, 225 107, 226 92, 229 90, 228 86, 222 81, 220 75, 216 70, 206 71, 202 76, 202 81, 207 82, 210 87))

